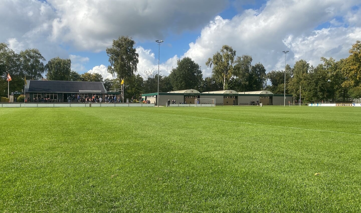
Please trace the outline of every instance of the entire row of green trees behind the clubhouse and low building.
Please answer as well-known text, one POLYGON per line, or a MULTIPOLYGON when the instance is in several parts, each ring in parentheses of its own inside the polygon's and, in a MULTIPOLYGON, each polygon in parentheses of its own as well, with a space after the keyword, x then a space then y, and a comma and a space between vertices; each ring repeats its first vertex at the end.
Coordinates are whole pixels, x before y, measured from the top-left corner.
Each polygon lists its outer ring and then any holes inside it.
MULTIPOLYGON (((125 98, 138 97, 143 93, 158 91, 158 72, 148 69, 138 72, 138 53, 131 37, 121 36, 113 40, 112 47, 106 48, 109 56, 108 73, 114 79, 103 79, 99 73, 79 74, 71 70, 71 60, 55 57, 44 65, 45 58, 37 49, 27 49, 16 54, 7 44, 0 43, 0 96, 7 93, 7 73, 12 76, 11 91, 21 91, 24 76, 27 80, 55 81, 99 81, 110 90, 121 88, 124 79, 125 98), (45 75, 44 75, 45 73, 45 75), (136 74, 138 73, 138 74, 136 74)), ((212 76, 203 78, 201 66, 190 57, 177 61, 169 76, 160 74, 159 91, 197 89, 217 91, 232 89, 236 91, 270 90, 274 94, 292 94, 294 101, 300 97, 303 102, 335 101, 361 97, 361 42, 356 41, 349 50, 349 57, 336 61, 321 57, 322 63, 313 67, 305 60, 296 61, 286 71, 270 71, 260 63, 252 65, 252 56, 236 56, 236 51, 228 45, 213 54, 205 62, 212 68, 212 76), (285 80, 286 75, 286 80, 285 80), (267 81, 271 85, 267 85, 267 81)))

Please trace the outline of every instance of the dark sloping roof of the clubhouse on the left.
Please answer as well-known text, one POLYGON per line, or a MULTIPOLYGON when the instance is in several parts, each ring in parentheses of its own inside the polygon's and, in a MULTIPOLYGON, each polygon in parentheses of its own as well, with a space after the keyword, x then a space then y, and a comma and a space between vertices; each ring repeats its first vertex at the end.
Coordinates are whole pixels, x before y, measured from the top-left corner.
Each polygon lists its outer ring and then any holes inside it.
POLYGON ((100 91, 100 93, 106 93, 103 82, 27 80, 25 88, 26 92, 79 93, 79 90, 100 91))

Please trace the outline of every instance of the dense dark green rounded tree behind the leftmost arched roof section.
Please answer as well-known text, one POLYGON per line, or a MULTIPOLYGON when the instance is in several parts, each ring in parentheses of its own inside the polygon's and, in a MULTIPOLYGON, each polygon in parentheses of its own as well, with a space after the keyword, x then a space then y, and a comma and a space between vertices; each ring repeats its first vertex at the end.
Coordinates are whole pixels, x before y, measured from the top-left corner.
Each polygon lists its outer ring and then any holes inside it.
POLYGON ((184 57, 177 61, 177 68, 173 68, 169 74, 171 85, 174 90, 199 89, 203 80, 200 66, 190 57, 184 57))

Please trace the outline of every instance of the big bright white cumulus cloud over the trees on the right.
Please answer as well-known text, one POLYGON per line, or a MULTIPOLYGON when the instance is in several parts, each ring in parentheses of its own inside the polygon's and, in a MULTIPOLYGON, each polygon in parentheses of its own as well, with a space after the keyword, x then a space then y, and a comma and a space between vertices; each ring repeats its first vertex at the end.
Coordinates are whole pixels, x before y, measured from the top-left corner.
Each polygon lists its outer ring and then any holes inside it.
MULTIPOLYGON (((360 28, 315 29, 335 16, 357 19, 349 14, 356 3, 269 0, 260 9, 245 10, 231 20, 217 16, 202 29, 200 37, 189 44, 189 50, 182 57, 191 57, 205 67, 208 57, 227 44, 238 56, 251 55, 254 63, 261 62, 268 71, 284 68, 283 50, 290 50, 287 63, 291 65, 299 59, 317 65, 321 56, 347 57, 347 49, 361 38, 356 34, 360 28)), ((211 72, 209 68, 203 69, 204 76, 210 76, 211 72)))

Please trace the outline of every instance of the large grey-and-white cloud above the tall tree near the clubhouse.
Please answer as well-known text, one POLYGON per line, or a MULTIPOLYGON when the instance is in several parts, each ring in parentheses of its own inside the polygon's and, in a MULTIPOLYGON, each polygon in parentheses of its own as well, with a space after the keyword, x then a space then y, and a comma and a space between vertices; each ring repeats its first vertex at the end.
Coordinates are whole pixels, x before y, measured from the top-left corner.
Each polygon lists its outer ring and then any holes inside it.
POLYGON ((48 0, 58 17, 52 39, 81 50, 104 50, 119 35, 139 40, 165 37, 204 25, 227 7, 228 0, 48 0), (192 5, 192 7, 190 7, 192 5))

